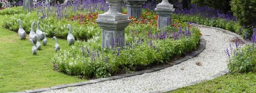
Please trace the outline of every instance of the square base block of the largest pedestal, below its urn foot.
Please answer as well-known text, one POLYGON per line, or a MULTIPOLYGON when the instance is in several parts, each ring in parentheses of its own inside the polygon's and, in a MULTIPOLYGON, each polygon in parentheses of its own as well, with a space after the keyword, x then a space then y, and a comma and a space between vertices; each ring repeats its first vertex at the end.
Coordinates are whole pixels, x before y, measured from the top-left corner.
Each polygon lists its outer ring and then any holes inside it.
POLYGON ((120 20, 120 21, 110 21, 110 20, 100 20, 96 19, 95 22, 98 23, 99 27, 102 28, 102 49, 106 48, 106 43, 108 46, 113 47, 113 39, 115 47, 125 46, 125 27, 131 22, 130 19, 120 20), (118 38, 117 38, 118 37, 118 38), (120 44, 118 44, 118 39, 121 39, 120 44))

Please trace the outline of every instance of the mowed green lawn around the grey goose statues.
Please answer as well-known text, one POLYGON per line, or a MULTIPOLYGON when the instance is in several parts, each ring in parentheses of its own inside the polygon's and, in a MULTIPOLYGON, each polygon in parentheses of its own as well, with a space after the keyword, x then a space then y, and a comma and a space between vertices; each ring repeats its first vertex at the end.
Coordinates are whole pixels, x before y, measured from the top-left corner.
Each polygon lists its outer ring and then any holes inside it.
MULTIPOLYGON (((3 16, 0 15, 0 19, 3 16)), ((28 23, 32 24, 32 23, 28 23)), ((20 40, 17 33, 5 29, 0 23, 0 93, 49 88, 75 82, 87 81, 53 70, 52 57, 55 40, 47 37, 47 46, 32 55, 29 35, 20 40)), ((61 49, 68 49, 67 40, 58 39, 61 49)), ((57 52, 58 53, 58 52, 57 52)))

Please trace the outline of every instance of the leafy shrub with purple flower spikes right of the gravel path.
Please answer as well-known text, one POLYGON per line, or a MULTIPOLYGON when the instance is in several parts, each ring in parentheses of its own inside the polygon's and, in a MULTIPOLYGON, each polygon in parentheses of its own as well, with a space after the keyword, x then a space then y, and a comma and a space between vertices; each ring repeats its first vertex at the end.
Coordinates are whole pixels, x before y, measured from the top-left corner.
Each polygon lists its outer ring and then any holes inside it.
POLYGON ((230 50, 225 50, 228 57, 230 57, 227 60, 227 67, 230 72, 244 73, 256 71, 256 28, 253 29, 251 42, 244 44, 239 39, 236 39, 234 42, 236 45, 235 49, 232 49, 230 46, 230 50), (244 44, 243 47, 241 47, 241 44, 244 44))

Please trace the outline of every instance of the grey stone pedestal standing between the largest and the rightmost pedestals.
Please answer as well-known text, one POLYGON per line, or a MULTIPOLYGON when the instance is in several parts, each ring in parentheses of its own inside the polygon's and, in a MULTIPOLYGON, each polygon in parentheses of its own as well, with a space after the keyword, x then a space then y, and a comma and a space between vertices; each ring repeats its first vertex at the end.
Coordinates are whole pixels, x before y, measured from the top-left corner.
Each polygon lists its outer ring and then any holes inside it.
POLYGON ((137 19, 141 16, 142 5, 145 4, 147 0, 124 0, 127 6, 127 15, 137 17, 137 19))

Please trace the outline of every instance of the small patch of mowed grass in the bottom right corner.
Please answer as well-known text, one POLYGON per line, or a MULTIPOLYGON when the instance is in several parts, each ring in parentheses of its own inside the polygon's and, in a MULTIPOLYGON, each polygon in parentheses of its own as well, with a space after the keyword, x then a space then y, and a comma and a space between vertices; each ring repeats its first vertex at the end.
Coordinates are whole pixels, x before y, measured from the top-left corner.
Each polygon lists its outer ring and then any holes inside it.
POLYGON ((256 93, 256 73, 227 74, 168 93, 256 93))

